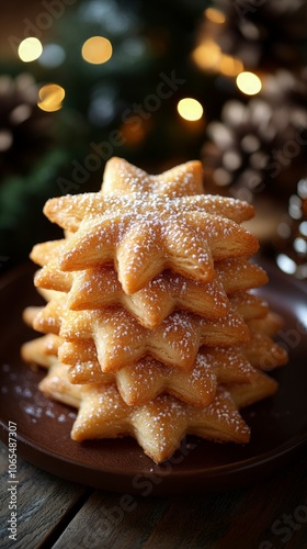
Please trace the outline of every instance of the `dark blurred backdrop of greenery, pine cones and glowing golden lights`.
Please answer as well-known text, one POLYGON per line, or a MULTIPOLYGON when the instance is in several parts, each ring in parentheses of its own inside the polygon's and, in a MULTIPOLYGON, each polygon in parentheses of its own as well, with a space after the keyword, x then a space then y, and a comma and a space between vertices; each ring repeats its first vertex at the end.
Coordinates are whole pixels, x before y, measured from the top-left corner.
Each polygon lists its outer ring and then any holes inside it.
POLYGON ((59 236, 56 195, 105 161, 190 159, 254 204, 252 231, 307 278, 306 0, 42 0, 1 5, 0 273, 59 236))

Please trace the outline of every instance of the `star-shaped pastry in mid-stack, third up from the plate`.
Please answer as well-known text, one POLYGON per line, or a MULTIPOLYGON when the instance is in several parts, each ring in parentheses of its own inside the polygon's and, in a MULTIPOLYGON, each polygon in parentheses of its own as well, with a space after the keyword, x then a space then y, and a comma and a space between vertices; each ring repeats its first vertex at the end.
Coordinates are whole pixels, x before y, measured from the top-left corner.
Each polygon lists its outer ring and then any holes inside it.
POLYGON ((24 315, 37 332, 60 334, 73 341, 94 340, 103 371, 117 371, 148 354, 170 366, 190 369, 202 345, 241 344, 252 366, 264 370, 285 363, 286 351, 271 338, 278 320, 268 312, 268 305, 248 292, 235 294, 230 302, 235 309, 224 317, 203 318, 175 311, 155 329, 141 326, 121 306, 70 311, 64 298, 45 307, 29 307, 24 315))

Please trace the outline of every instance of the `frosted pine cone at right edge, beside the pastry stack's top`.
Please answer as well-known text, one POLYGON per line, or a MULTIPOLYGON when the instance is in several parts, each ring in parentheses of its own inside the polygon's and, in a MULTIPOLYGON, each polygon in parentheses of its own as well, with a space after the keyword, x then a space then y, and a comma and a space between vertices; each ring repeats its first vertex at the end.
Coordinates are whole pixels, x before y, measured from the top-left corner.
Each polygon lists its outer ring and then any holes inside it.
POLYGON ((227 101, 202 150, 214 183, 249 201, 260 192, 287 201, 306 172, 306 75, 283 70, 265 77, 247 103, 227 101))

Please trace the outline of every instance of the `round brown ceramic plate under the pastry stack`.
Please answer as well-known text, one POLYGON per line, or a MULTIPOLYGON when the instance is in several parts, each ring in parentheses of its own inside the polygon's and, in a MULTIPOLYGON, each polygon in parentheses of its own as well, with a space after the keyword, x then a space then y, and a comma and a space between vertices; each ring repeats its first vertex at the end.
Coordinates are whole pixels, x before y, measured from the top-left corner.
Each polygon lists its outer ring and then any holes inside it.
POLYGON ((70 481, 143 496, 229 489, 275 469, 307 441, 307 290, 276 268, 264 267, 271 281, 260 293, 285 317, 277 339, 288 349, 289 363, 275 373, 277 394, 243 412, 252 432, 249 445, 187 437, 169 462, 155 466, 130 438, 81 445, 70 440, 73 410, 39 394, 44 371, 32 371, 20 359, 20 345, 35 336, 23 325, 22 310, 38 303, 29 266, 0 280, 2 441, 8 444, 8 425, 14 422, 19 457, 70 481))

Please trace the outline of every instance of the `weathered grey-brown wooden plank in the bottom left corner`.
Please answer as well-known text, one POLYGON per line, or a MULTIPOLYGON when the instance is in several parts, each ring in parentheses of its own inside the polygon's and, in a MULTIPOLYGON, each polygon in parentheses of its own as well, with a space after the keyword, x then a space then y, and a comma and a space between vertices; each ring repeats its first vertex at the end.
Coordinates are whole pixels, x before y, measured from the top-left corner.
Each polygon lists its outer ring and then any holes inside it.
POLYGON ((65 520, 69 511, 77 505, 86 493, 86 489, 78 484, 66 482, 46 473, 25 461, 18 459, 16 470, 16 502, 14 492, 9 488, 14 484, 8 481, 8 448, 0 442, 0 539, 1 548, 14 549, 30 547, 35 549, 48 538, 60 520, 65 520), (11 503, 10 503, 11 502, 11 503), (9 505, 16 503, 16 541, 9 538, 8 530, 11 518, 9 505))

